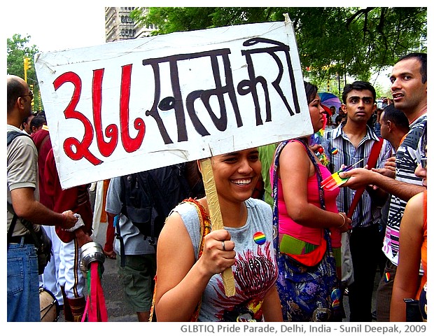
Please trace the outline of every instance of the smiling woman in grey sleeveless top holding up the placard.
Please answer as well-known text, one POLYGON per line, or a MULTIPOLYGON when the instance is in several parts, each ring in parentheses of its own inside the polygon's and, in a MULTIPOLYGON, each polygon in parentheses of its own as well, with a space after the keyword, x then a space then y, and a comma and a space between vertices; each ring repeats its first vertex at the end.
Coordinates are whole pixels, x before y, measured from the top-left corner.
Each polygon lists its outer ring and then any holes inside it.
POLYGON ((211 161, 224 228, 209 232, 202 247, 201 227, 209 223, 209 207, 215 204, 204 197, 172 211, 157 246, 157 321, 282 321, 272 211, 251 198, 261 171, 258 150, 216 155, 211 161), (221 274, 228 267, 235 278, 232 296, 225 294, 221 274))

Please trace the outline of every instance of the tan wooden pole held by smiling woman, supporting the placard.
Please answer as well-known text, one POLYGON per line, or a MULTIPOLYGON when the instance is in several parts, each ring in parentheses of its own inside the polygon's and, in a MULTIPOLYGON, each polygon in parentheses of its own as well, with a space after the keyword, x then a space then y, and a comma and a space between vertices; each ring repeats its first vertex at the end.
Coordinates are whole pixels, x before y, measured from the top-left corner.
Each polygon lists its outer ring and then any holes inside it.
MULTIPOLYGON (((205 195, 207 195, 209 216, 211 218, 212 230, 223 229, 223 218, 221 216, 220 204, 218 203, 218 195, 216 190, 216 181, 211 167, 211 158, 200 160, 202 168, 202 179, 204 181, 205 195)), ((222 274, 223 286, 225 287, 226 296, 235 295, 235 279, 232 273, 232 268, 228 267, 222 274)))

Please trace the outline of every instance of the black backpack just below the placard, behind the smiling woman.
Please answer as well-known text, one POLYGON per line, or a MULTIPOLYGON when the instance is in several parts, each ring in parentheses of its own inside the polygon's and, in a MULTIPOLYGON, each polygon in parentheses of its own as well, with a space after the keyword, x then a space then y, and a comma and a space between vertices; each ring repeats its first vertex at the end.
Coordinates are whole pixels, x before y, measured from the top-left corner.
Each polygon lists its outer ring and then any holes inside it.
POLYGON ((197 197, 204 190, 203 183, 202 188, 190 187, 186 165, 182 163, 151 169, 120 179, 121 212, 154 247, 155 238, 160 235, 170 211, 186 198, 197 197))

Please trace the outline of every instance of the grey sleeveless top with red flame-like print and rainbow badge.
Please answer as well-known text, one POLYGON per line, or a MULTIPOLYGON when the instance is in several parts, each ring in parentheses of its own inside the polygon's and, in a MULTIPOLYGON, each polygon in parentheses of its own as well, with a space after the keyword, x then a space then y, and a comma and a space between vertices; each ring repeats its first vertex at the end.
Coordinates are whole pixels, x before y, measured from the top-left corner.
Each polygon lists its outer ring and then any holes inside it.
MULTIPOLYGON (((272 209, 250 198, 245 201, 247 221, 241 228, 226 228, 235 242, 236 262, 232 266, 236 293, 225 295, 221 274, 211 277, 202 295, 199 321, 262 321, 262 301, 277 278, 273 248, 272 209)), ((188 230, 197 259, 200 223, 192 204, 179 204, 176 211, 188 230)), ((212 223, 211 223, 212 225, 212 223)))

